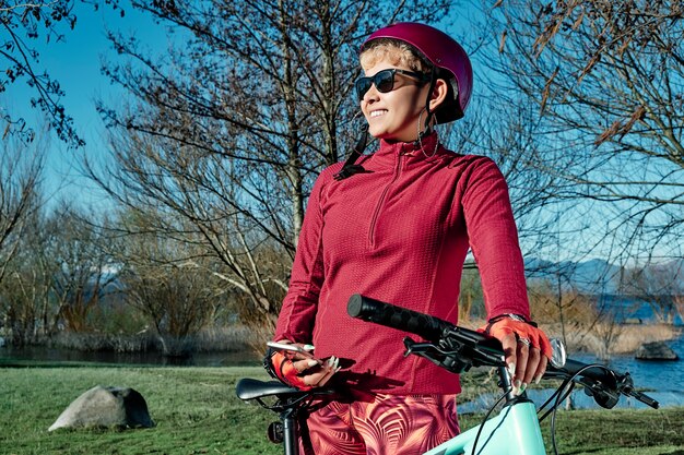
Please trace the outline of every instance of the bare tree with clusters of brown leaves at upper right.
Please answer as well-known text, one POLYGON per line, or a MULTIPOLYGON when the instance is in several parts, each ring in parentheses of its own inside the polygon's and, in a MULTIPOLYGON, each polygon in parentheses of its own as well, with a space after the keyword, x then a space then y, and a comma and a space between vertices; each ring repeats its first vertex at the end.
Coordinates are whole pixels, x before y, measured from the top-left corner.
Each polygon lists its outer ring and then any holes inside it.
POLYGON ((555 193, 563 207, 585 201, 575 227, 602 230, 585 236, 588 249, 681 256, 683 3, 496 5, 487 16, 499 44, 488 59, 494 79, 538 107, 538 166, 565 182, 555 193))

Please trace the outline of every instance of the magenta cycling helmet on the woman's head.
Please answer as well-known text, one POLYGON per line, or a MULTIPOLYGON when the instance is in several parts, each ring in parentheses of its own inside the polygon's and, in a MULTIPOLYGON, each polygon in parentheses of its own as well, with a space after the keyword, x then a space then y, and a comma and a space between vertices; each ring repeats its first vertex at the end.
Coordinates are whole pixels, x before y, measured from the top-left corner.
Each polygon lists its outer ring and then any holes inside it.
POLYGON ((435 112, 438 123, 447 123, 463 117, 473 88, 473 69, 468 53, 449 35, 416 22, 400 22, 372 34, 361 47, 363 51, 370 41, 379 38, 398 39, 413 46, 435 68, 438 77, 450 79, 452 97, 448 97, 435 112), (447 74, 445 74, 445 72, 447 74))

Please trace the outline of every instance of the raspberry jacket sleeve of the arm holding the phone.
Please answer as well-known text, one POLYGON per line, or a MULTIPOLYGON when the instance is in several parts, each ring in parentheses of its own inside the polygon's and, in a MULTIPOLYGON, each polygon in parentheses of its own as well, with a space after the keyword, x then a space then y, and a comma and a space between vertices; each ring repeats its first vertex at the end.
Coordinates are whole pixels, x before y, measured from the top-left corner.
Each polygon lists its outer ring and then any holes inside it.
POLYGON ((323 217, 321 193, 330 172, 323 171, 311 190, 292 265, 290 287, 278 318, 273 339, 310 343, 323 284, 323 217))

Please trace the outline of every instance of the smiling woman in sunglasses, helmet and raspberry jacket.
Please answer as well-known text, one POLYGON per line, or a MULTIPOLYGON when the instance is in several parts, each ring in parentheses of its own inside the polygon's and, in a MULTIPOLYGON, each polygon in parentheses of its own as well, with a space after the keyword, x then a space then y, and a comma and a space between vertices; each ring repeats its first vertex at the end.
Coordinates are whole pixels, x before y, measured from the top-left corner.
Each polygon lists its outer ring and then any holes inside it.
POLYGON ((271 360, 294 386, 334 383, 340 391, 308 417, 308 452, 418 454, 458 433, 458 378, 425 359, 404 359, 405 334, 350 318, 352 294, 456 323, 470 248, 486 330, 504 345, 517 393, 541 379, 551 347, 527 322, 522 256, 502 172, 486 157, 448 151, 434 129, 468 107, 472 70, 463 49, 433 27, 401 23, 370 35, 361 64, 366 75, 356 93, 380 146, 316 181, 274 335, 314 345, 316 358, 275 352, 271 360))

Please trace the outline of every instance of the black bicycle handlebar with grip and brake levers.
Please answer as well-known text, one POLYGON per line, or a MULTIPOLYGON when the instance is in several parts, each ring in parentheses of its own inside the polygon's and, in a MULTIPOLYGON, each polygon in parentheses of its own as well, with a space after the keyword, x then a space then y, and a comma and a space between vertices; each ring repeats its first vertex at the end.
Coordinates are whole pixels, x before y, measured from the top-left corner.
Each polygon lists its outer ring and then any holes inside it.
MULTIPOLYGON (((480 332, 459 327, 439 318, 386 303, 359 294, 350 298, 346 311, 352 318, 425 338, 429 342, 428 348, 434 348, 432 355, 425 355, 426 346, 424 344, 415 343, 410 338, 404 340, 404 345, 409 352, 417 347, 416 350, 422 350, 420 355, 449 371, 468 371, 473 366, 505 366, 503 361, 504 351, 497 339, 480 332), (452 358, 448 358, 449 356, 452 358)), ((620 394, 629 395, 653 408, 658 407, 658 402, 634 390, 629 373, 620 374, 608 367, 589 366, 567 359, 565 366, 559 368, 550 363, 544 376, 564 380, 579 378, 577 382, 587 387, 600 406, 606 408, 615 406, 620 394)))

